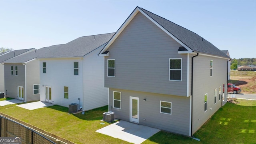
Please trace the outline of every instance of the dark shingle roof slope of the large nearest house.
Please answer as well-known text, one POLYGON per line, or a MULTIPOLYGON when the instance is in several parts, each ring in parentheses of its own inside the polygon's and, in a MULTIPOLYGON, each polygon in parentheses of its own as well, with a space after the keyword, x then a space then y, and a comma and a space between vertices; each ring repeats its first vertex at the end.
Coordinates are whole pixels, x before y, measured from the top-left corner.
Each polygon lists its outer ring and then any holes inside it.
MULTIPOLYGON (((140 7, 138 7, 140 8, 140 7)), ((162 18, 148 10, 140 8, 143 12, 145 12, 150 18, 155 20, 158 24, 160 24, 163 28, 165 28, 168 32, 170 32, 173 36, 175 36, 178 40, 180 40, 183 44, 188 46, 194 52, 211 54, 215 56, 221 56, 225 58, 229 58, 226 54, 224 54, 221 50, 216 48, 213 44, 199 36, 198 34, 179 26, 165 18, 162 18)))

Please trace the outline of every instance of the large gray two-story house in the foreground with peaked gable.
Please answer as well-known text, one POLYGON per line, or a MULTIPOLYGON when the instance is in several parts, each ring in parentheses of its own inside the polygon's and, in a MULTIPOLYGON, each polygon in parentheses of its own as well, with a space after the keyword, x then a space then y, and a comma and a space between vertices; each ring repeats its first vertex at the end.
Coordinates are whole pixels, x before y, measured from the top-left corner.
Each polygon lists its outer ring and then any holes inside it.
POLYGON ((222 106, 229 56, 143 8, 134 9, 99 55, 117 119, 192 136, 222 106))

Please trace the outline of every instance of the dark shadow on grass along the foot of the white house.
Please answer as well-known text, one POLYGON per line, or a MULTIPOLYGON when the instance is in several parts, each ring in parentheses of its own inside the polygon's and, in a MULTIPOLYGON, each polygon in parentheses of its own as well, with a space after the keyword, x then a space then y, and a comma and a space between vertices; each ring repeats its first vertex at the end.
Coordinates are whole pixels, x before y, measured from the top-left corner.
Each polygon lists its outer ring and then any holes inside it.
MULTIPOLYGON (((47 108, 68 113, 68 107, 64 107, 64 106, 54 105, 54 106, 49 106, 47 108)), ((103 118, 102 113, 107 111, 108 111, 108 105, 100 108, 95 108, 93 110, 85 111, 84 114, 80 112, 72 115, 82 120, 102 120, 103 118)))

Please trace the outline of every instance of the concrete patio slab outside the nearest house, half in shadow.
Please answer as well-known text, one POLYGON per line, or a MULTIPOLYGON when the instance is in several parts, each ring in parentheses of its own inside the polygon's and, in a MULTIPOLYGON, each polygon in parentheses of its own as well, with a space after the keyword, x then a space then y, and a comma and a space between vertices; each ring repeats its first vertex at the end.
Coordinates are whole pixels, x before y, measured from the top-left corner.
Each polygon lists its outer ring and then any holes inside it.
POLYGON ((141 144, 159 131, 160 130, 156 128, 133 124, 123 120, 96 130, 96 132, 101 134, 106 134, 134 144, 141 144))

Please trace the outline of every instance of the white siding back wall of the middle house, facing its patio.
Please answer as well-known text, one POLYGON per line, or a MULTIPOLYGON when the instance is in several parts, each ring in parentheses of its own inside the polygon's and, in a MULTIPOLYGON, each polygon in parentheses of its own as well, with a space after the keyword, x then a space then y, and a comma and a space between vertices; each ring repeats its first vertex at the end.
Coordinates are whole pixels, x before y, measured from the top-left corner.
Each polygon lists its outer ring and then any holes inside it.
POLYGON ((40 100, 45 101, 45 86, 52 87, 52 103, 68 107, 83 102, 82 58, 40 59, 40 100), (46 73, 42 63, 46 62, 46 73), (74 75, 74 62, 79 62, 79 75, 74 75), (64 98, 64 86, 68 86, 68 99, 64 98))

